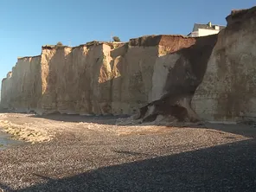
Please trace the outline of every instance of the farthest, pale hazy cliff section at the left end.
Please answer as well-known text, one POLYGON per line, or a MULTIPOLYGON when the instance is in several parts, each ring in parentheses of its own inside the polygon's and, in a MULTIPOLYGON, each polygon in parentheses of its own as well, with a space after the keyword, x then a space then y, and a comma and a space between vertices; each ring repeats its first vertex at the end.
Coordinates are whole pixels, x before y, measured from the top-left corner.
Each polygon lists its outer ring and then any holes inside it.
POLYGON ((1 104, 18 112, 35 110, 41 97, 41 57, 18 59, 12 72, 2 81, 1 104))

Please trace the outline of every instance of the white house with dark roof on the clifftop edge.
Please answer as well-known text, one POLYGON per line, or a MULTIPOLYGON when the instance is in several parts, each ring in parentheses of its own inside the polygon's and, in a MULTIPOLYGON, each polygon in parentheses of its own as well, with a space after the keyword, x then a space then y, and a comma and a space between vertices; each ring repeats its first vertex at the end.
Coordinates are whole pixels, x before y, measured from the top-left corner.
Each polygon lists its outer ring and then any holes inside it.
POLYGON ((212 22, 208 22, 207 24, 199 24, 195 23, 193 31, 189 33, 188 36, 196 37, 196 36, 207 36, 218 34, 221 29, 224 29, 225 26, 221 25, 213 25, 212 22))

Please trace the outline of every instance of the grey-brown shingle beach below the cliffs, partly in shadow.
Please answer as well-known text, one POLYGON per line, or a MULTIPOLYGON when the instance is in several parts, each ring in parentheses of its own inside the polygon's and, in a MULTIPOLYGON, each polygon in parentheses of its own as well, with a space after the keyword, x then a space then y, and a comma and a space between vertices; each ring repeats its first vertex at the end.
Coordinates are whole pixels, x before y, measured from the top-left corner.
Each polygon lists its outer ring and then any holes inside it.
MULTIPOLYGON (((3 117, 3 116, 2 116, 3 117)), ((116 125, 116 118, 4 114, 48 143, 0 150, 0 191, 256 191, 253 125, 116 125)))

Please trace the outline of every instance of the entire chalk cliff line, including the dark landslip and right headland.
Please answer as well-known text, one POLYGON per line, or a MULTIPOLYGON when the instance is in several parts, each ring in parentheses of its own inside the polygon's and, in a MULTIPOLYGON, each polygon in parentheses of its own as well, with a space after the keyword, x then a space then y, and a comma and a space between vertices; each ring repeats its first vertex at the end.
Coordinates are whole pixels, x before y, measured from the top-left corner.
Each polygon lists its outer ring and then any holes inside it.
POLYGON ((18 112, 159 115, 181 121, 256 117, 256 8, 218 35, 151 35, 127 43, 44 46, 18 59, 1 105, 18 112), (192 107, 191 107, 192 106, 192 107))

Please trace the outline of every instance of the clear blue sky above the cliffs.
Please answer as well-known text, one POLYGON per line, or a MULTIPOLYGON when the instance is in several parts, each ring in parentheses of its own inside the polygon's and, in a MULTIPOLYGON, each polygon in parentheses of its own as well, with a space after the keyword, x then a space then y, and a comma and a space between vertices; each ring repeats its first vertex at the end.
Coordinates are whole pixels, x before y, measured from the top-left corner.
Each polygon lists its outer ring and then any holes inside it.
POLYGON ((226 25, 231 10, 253 5, 255 0, 1 0, 0 78, 18 56, 41 54, 44 44, 109 41, 111 33, 124 42, 142 35, 187 35, 194 22, 226 25))

